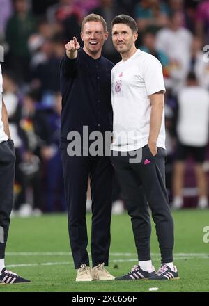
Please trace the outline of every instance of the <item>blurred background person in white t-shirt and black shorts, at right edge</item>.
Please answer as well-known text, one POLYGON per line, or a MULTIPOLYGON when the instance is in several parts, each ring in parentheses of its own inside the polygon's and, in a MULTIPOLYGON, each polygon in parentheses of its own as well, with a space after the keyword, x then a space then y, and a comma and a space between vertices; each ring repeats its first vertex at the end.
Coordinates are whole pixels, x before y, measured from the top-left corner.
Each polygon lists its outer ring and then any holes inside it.
POLYGON ((173 175, 173 209, 183 207, 183 177, 185 161, 192 155, 196 184, 199 187, 198 207, 208 207, 206 175, 203 172, 208 144, 209 95, 199 86, 194 72, 190 72, 185 86, 178 95, 176 162, 173 175))

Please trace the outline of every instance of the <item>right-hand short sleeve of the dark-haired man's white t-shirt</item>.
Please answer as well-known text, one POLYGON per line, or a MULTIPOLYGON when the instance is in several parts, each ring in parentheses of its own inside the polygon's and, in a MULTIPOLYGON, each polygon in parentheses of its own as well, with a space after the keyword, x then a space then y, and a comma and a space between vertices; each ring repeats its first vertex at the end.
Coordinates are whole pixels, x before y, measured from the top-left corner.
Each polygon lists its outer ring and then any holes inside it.
POLYGON ((155 92, 165 92, 164 79, 162 74, 162 65, 154 56, 146 58, 144 61, 144 83, 147 95, 153 95, 155 92))

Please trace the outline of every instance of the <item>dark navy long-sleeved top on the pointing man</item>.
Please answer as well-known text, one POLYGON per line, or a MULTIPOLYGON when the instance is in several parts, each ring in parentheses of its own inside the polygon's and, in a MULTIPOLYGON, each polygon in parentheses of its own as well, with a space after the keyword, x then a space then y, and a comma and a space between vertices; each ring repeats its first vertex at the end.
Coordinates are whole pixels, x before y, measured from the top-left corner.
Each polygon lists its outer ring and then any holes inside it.
POLYGON ((61 59, 61 140, 70 131, 82 135, 83 126, 92 131, 111 131, 111 69, 103 56, 93 59, 83 49, 75 59, 61 59))

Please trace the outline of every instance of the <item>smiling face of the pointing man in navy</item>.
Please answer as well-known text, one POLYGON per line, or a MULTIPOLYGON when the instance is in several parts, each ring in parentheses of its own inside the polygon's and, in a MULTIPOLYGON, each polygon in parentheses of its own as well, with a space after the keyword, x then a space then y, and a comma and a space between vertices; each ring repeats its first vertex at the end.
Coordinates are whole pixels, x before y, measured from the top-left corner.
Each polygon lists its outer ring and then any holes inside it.
POLYGON ((93 58, 100 57, 104 41, 108 38, 108 33, 104 31, 102 24, 86 22, 81 37, 84 42, 84 51, 93 58))

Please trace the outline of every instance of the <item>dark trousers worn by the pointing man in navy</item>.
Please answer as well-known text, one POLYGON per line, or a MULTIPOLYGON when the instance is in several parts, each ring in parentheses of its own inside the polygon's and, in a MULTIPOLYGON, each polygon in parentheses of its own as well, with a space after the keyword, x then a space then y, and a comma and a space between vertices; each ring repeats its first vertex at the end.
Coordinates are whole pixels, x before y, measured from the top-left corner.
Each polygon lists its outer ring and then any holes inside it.
POLYGON ((107 156, 68 156, 68 143, 61 143, 61 159, 68 205, 68 230, 75 268, 89 266, 86 228, 86 192, 91 178, 93 266, 108 265, 113 168, 107 156))

